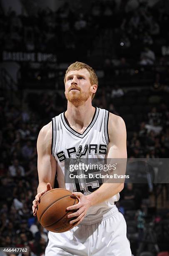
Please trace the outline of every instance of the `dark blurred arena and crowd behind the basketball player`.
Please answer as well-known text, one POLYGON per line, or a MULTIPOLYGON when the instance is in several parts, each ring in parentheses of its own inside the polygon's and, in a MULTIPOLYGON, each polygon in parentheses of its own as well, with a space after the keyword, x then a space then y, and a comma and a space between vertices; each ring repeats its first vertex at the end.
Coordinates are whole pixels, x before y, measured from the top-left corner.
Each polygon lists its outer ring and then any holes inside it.
MULTIPOLYGON (((70 63, 96 70, 93 105, 124 118, 128 158, 168 157, 168 27, 168 0, 0 1, 0 246, 44 255, 47 232, 32 216, 36 141, 66 110, 70 63)), ((133 255, 169 255, 169 185, 120 194, 133 255)))

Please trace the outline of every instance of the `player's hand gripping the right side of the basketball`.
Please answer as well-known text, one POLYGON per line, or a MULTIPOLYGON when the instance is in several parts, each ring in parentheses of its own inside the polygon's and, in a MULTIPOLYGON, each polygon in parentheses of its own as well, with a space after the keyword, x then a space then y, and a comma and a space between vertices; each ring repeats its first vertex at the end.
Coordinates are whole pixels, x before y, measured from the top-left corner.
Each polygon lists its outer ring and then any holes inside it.
POLYGON ((86 214, 87 214, 87 210, 89 209, 89 207, 91 206, 91 202, 89 201, 89 197, 83 195, 80 192, 73 192, 72 193, 73 196, 78 197, 79 202, 76 205, 72 205, 70 207, 67 207, 67 210, 77 210, 76 212, 73 212, 69 215, 67 215, 67 218, 73 218, 76 217, 74 220, 70 221, 70 224, 73 224, 75 222, 77 226, 79 223, 82 222, 82 220, 85 218, 86 214))

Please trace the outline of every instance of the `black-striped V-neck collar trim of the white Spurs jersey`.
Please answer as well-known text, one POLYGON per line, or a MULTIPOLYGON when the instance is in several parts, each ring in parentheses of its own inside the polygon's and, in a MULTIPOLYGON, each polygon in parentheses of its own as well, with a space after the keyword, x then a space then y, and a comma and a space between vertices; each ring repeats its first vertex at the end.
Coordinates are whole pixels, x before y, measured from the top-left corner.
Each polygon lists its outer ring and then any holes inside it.
MULTIPOLYGON (((63 118, 64 118, 64 114, 65 114, 65 112, 63 113, 63 118)), ((90 122, 90 124, 87 126, 87 128, 85 129, 85 131, 81 134, 81 133, 78 133, 77 131, 75 131, 74 129, 72 129, 69 125, 67 125, 67 123, 66 123, 66 120, 64 119, 63 120, 63 118, 62 118, 62 115, 61 115, 61 119, 62 119, 62 123, 63 123, 63 125, 65 126, 65 128, 70 132, 70 133, 72 133, 73 135, 75 135, 76 137, 78 137, 78 138, 84 138, 86 135, 87 135, 87 133, 89 133, 89 131, 91 130, 91 128, 93 127, 93 125, 96 123, 96 120, 97 120, 97 118, 98 118, 98 115, 99 115, 99 108, 95 108, 95 112, 94 112, 94 115, 93 115, 93 118, 92 118, 92 121, 90 122), (98 110, 98 111, 97 111, 98 110), (96 116, 96 113, 97 113, 97 116, 96 116), (95 119, 95 120, 94 120, 95 119), (64 122, 65 121, 65 122, 64 122), (65 125, 65 123, 66 123, 66 125, 65 125), (91 127, 90 127, 90 125, 91 125, 91 127), (72 132, 72 131, 73 132, 72 132), (87 131, 88 130, 88 131, 87 131), (80 136, 78 136, 78 135, 80 135, 80 136)))

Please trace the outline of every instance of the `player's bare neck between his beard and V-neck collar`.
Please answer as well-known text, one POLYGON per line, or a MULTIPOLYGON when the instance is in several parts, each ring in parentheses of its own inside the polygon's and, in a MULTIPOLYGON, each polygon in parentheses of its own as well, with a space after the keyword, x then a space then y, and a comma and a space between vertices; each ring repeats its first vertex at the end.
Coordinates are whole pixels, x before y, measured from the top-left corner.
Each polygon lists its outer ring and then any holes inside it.
POLYGON ((80 106, 75 106, 68 101, 65 117, 75 131, 83 133, 91 123, 94 112, 95 108, 92 106, 92 102, 85 102, 80 106))

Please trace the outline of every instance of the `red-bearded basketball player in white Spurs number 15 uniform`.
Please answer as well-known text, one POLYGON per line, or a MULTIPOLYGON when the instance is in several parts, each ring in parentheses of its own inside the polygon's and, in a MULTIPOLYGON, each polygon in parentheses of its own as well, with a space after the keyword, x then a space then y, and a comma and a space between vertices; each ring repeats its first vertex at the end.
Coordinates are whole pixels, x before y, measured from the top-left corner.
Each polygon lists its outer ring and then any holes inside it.
POLYGON ((94 108, 92 99, 98 80, 87 64, 75 62, 65 74, 67 110, 45 125, 37 139, 39 186, 33 201, 36 215, 37 202, 48 190, 55 187, 72 191, 79 203, 67 210, 78 209, 68 215, 75 217, 75 227, 64 233, 48 233, 47 256, 131 256, 126 236, 126 222, 115 201, 123 183, 65 184, 65 159, 127 158, 126 128, 121 117, 107 110, 94 108), (51 152, 52 149, 52 152, 51 152))

